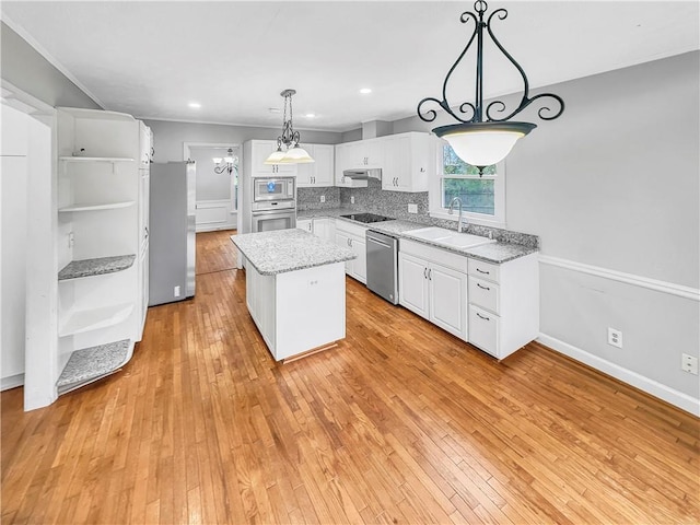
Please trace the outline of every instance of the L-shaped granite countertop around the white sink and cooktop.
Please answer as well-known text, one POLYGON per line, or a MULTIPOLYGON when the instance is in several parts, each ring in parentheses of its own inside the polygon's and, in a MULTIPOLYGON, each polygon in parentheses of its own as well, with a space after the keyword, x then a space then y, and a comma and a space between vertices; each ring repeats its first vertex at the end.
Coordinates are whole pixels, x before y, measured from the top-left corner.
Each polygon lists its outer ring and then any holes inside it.
MULTIPOLYGON (((425 228, 425 226, 429 226, 430 224, 411 222, 411 221, 401 221, 401 220, 373 222, 371 224, 365 224, 362 222, 352 221, 350 219, 340 217, 340 215, 348 215, 351 213, 362 213, 362 211, 363 210, 352 210, 349 208, 304 210, 299 212, 298 218, 315 219, 315 218, 327 217, 327 218, 342 219, 345 221, 352 222, 353 224, 360 224, 360 225, 366 226, 372 231, 384 233, 392 237, 416 241, 418 243, 435 246, 441 249, 446 249, 448 252, 453 252, 459 255, 472 257, 475 259, 483 260, 486 262, 494 262, 494 264, 508 262, 509 260, 517 259, 518 257, 524 257, 526 255, 535 254, 539 252, 539 249, 535 246, 527 246, 525 244, 500 242, 500 241, 497 241, 495 243, 491 243, 491 244, 483 244, 481 246, 476 246, 472 248, 458 248, 458 247, 445 246, 444 244, 438 244, 431 241, 427 241, 424 238, 418 238, 418 237, 411 236, 410 232, 412 230, 425 228)), ((518 235, 523 235, 523 234, 517 234, 515 232, 508 232, 508 235, 511 238, 517 238, 518 235)), ((525 235, 525 236, 533 237, 532 235, 525 235)))

